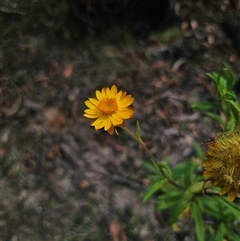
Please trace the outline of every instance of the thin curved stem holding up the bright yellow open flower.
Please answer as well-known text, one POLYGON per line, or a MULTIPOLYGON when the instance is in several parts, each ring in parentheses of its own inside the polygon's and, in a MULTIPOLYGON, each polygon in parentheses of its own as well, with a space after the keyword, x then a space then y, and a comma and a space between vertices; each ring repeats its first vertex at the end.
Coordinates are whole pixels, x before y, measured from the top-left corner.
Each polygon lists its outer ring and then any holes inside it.
POLYGON ((128 128, 126 127, 121 127, 130 137, 132 137, 136 142, 138 142, 140 144, 140 146, 144 149, 144 151, 148 154, 148 156, 151 158, 151 161, 153 162, 153 164, 155 166, 158 167, 158 170, 160 171, 160 173, 162 174, 162 176, 168 180, 168 182, 170 184, 172 184, 174 187, 178 188, 178 189, 182 189, 184 190, 184 187, 182 187, 181 185, 179 185, 178 183, 174 182, 173 180, 171 180, 169 177, 166 176, 165 172, 163 171, 163 167, 158 165, 158 161, 156 160, 156 158, 153 156, 153 154, 148 150, 148 148, 146 147, 145 143, 141 140, 141 138, 138 138, 134 133, 132 133, 128 128))

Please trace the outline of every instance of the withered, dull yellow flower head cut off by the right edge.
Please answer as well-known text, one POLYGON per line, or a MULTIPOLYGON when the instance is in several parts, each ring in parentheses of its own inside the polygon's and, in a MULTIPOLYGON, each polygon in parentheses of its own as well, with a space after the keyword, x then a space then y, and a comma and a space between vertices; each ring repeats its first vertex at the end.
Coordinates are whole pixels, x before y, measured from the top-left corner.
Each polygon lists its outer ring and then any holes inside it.
POLYGON ((218 134, 207 145, 203 175, 233 201, 240 194, 240 129, 218 134))

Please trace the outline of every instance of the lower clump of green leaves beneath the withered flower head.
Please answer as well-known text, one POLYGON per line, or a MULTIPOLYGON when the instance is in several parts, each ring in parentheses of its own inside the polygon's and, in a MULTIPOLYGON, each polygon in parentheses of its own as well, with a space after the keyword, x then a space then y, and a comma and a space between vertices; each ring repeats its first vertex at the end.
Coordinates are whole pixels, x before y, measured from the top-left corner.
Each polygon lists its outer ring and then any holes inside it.
POLYGON ((237 240, 240 207, 219 196, 217 192, 204 196, 201 194, 203 181, 202 177, 195 174, 199 164, 193 158, 189 162, 179 163, 172 169, 173 180, 178 180, 183 189, 169 184, 153 164, 149 165, 144 161, 143 165, 153 173, 149 176, 152 185, 143 196, 143 202, 155 196, 157 210, 171 210, 169 224, 177 222, 184 210, 190 208, 198 241, 206 240, 206 233, 210 234, 210 240, 237 240), (207 223, 205 217, 211 217, 210 220, 214 219, 214 223, 207 223))

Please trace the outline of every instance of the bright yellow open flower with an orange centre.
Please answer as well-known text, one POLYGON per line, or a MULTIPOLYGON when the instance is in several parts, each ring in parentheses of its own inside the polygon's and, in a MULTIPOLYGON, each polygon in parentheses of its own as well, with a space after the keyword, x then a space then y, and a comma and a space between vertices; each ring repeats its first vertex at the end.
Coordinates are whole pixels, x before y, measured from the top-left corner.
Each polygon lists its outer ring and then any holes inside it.
POLYGON ((84 111, 84 116, 95 119, 91 126, 96 130, 104 127, 104 130, 112 135, 115 126, 124 126, 124 120, 133 116, 134 111, 129 107, 133 101, 134 98, 125 91, 118 92, 115 85, 111 89, 96 90, 96 98, 88 98, 85 101, 89 109, 84 111))

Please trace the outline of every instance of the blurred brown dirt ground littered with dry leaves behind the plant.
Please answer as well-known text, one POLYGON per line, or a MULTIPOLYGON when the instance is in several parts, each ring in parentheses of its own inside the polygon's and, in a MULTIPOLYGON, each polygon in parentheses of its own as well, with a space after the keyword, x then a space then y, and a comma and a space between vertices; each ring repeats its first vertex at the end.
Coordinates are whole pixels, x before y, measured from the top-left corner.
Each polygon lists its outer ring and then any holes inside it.
POLYGON ((135 98, 134 130, 170 165, 220 127, 191 109, 213 100, 206 72, 239 76, 240 2, 173 1, 178 21, 139 43, 116 26, 89 29, 64 1, 8 1, 1 11, 0 237, 3 241, 187 241, 142 203, 144 151, 125 133, 90 127, 84 101, 115 84, 135 98), (230 14, 231 12, 231 14, 230 14), (238 31, 238 32, 237 32, 238 31), (239 37, 239 39, 237 38, 239 37))

